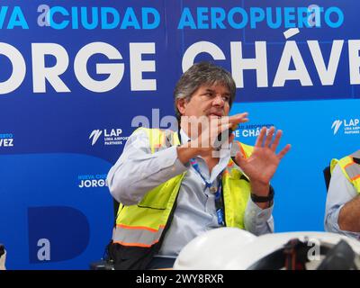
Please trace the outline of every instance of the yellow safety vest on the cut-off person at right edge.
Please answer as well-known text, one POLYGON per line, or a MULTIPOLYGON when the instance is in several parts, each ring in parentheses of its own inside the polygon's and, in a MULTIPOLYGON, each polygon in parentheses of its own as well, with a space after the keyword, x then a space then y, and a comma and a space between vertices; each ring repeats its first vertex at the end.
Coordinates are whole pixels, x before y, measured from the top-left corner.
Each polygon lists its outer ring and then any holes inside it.
POLYGON ((347 180, 353 184, 356 192, 360 193, 360 150, 350 156, 343 157, 340 160, 332 159, 330 165, 331 173, 337 164, 347 177, 347 180))

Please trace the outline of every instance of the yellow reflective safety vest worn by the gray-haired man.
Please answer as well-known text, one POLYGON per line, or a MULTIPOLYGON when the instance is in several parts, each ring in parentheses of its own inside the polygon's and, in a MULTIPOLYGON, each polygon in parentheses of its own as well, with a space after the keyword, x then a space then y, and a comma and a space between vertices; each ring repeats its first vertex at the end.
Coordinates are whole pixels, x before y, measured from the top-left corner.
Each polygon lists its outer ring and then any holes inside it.
MULTIPOLYGON (((139 129, 148 134, 151 153, 180 144, 178 134, 172 130, 139 129)), ((244 157, 251 155, 253 147, 240 142, 234 144, 238 145, 244 157)), ((136 205, 120 204, 112 235, 112 243, 118 244, 115 269, 145 269, 158 252, 173 220, 177 195, 185 174, 176 175, 148 191, 136 205)), ((222 175, 222 187, 226 226, 244 229, 250 184, 231 158, 222 175)))

